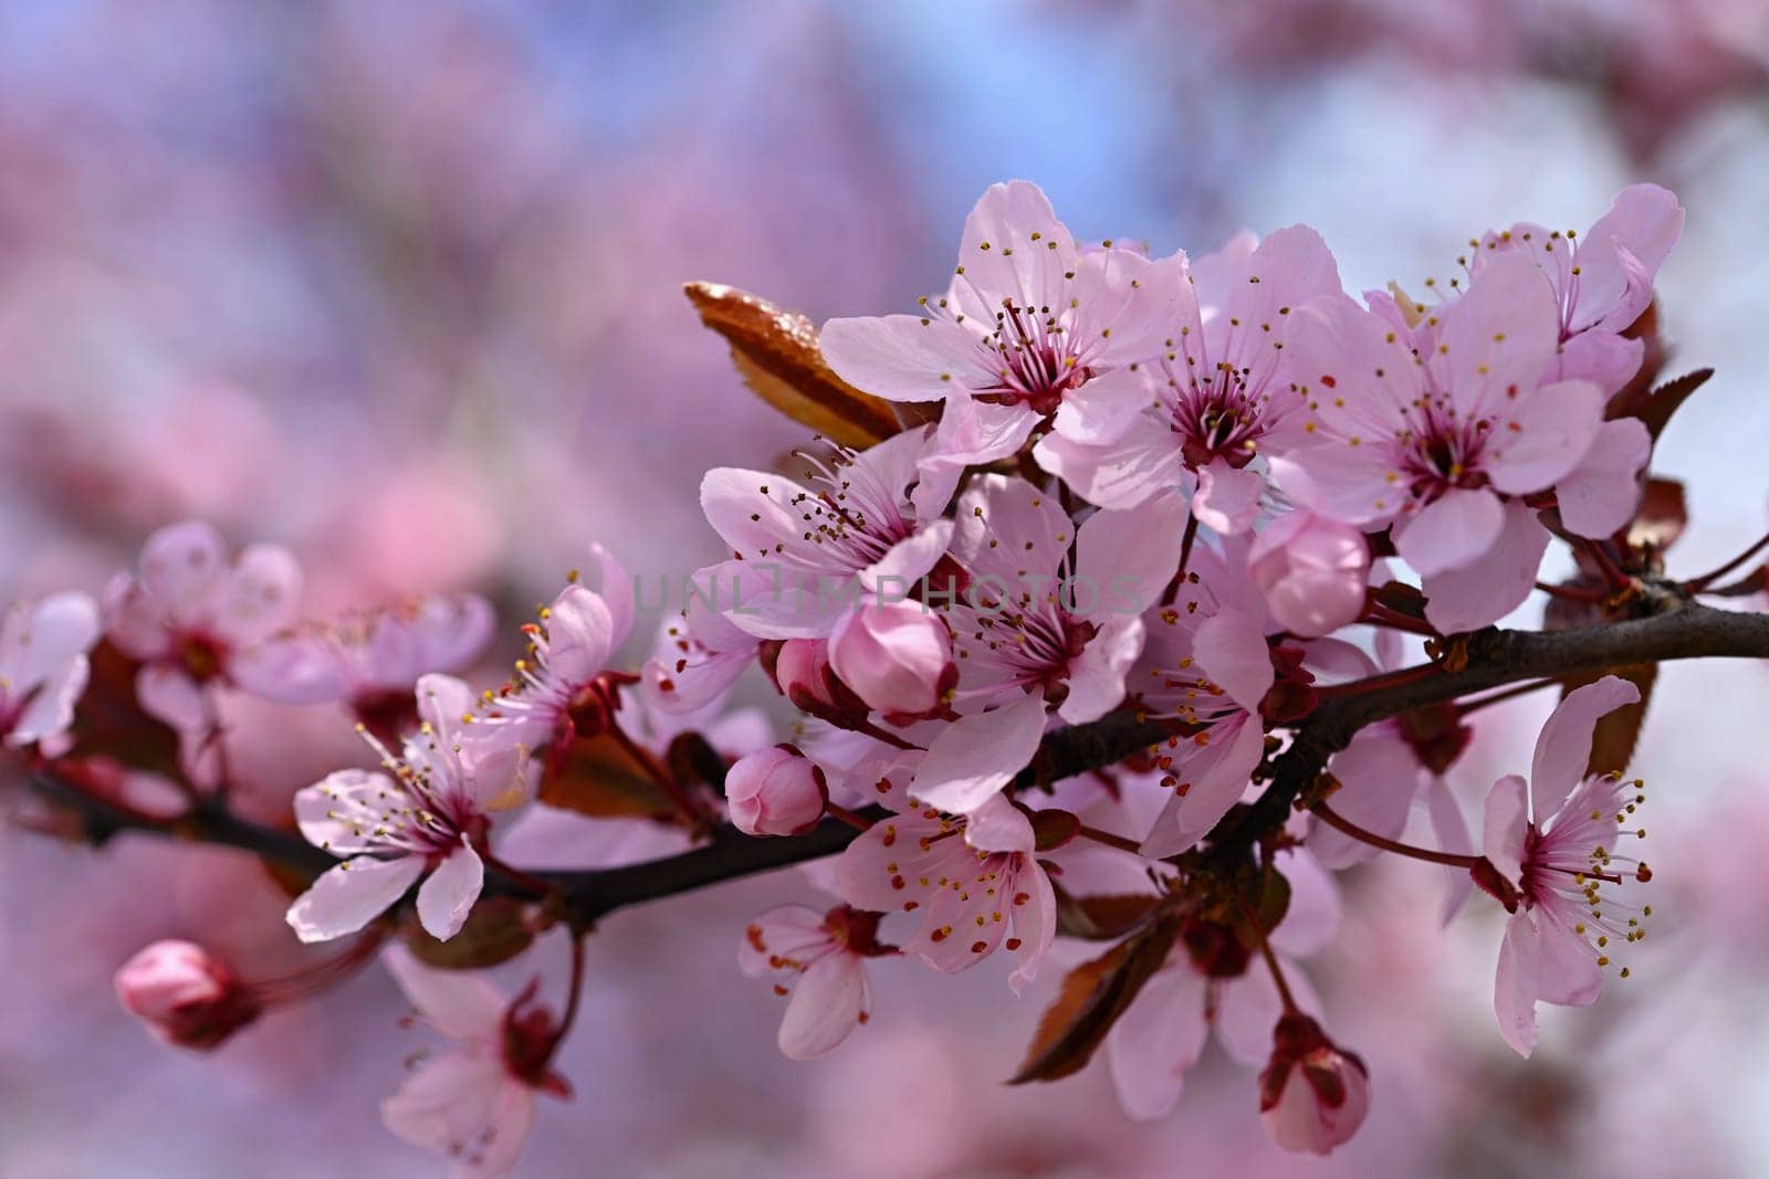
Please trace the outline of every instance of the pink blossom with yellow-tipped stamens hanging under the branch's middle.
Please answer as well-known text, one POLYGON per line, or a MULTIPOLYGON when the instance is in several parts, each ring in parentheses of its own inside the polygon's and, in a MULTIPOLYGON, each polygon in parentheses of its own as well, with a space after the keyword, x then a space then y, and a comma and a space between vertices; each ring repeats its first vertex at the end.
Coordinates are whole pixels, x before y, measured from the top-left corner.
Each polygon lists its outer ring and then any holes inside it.
MULTIPOLYGON (((900 804, 902 788, 881 785, 886 804, 900 804)), ((1031 820, 998 794, 969 817, 913 806, 876 822, 837 875, 854 909, 920 914, 902 949, 936 970, 966 970, 1005 946, 1019 958, 1008 979, 1019 993, 1056 937, 1056 894, 1035 847, 1031 820)))

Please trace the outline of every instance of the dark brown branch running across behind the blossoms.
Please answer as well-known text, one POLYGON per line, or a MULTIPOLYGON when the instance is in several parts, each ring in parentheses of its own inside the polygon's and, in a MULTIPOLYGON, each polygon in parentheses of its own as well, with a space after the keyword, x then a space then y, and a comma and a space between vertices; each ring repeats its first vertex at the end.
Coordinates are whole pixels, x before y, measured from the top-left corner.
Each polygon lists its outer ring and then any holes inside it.
MULTIPOLYGON (((1489 688, 1543 677, 1597 673, 1631 663, 1769 659, 1769 615, 1732 613, 1677 599, 1663 599, 1661 610, 1649 619, 1580 631, 1479 631, 1465 640, 1468 659, 1458 672, 1403 682, 1385 681, 1373 684, 1369 691, 1327 700, 1297 726, 1295 739, 1272 760, 1265 794, 1251 806, 1233 811, 1210 834, 1208 854, 1244 856, 1265 834, 1283 825, 1291 804, 1320 776, 1327 758, 1343 749, 1357 730, 1375 721, 1489 688)), ((1093 725, 1056 730, 1044 739, 1037 758, 1019 774, 1015 787, 1033 787, 1114 765, 1171 732, 1171 723, 1141 719, 1132 712, 1116 712, 1093 725)), ((318 875, 336 863, 292 833, 237 818, 214 804, 200 806, 175 820, 147 820, 50 776, 37 776, 32 785, 51 802, 80 813, 87 836, 94 841, 140 831, 219 843, 308 875, 318 875)), ((860 817, 876 820, 884 813, 883 808, 867 808, 860 817)), ((704 847, 667 859, 624 868, 529 875, 557 889, 564 914, 582 928, 628 905, 831 856, 858 834, 853 825, 835 818, 824 820, 810 834, 777 840, 752 840, 731 827, 718 827, 704 847)), ((531 887, 513 880, 488 882, 488 889, 532 894, 531 887)))

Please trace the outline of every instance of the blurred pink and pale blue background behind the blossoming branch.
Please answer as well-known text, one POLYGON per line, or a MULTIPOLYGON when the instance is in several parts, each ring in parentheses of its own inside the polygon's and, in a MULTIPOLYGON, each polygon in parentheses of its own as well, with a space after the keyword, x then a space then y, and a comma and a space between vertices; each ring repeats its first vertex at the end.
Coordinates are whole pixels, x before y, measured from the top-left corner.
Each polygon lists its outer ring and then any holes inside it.
MULTIPOLYGON (((1659 279, 1670 371, 1719 369, 1656 461, 1691 484, 1672 567, 1764 527, 1769 0, 12 0, 0 599, 97 590, 188 516, 294 546, 315 613, 476 589, 515 619, 591 541, 690 571, 718 555, 701 472, 803 433, 683 281, 816 320, 907 309, 1010 177, 1077 235, 1162 253, 1307 221, 1352 290, 1413 293, 1489 226, 1583 230, 1666 184, 1689 214, 1659 279)), ((734 955, 750 914, 814 896, 785 873, 605 924, 577 1099, 543 1103, 517 1174, 1769 1174, 1765 705, 1758 666, 1665 672, 1636 758, 1654 940, 1594 1011, 1548 1013, 1530 1062, 1493 1027, 1489 905, 1440 933, 1435 871, 1343 879, 1313 974, 1376 1105, 1332 1160, 1268 1147, 1215 1053, 1155 1124, 1099 1066, 1003 1087, 1047 992, 1008 1002, 994 962, 883 963, 869 1027, 780 1059, 734 955)), ((1548 707, 1482 714, 1470 808, 1548 707)), ((267 806, 361 757, 329 709, 274 716, 235 718, 267 806)), ((249 863, 7 833, 0 891, 0 1175, 439 1170, 379 1122, 426 1043, 382 972, 212 1057, 115 1006, 154 937, 248 974, 297 960, 249 863)), ((504 974, 557 986, 563 958, 504 974)))

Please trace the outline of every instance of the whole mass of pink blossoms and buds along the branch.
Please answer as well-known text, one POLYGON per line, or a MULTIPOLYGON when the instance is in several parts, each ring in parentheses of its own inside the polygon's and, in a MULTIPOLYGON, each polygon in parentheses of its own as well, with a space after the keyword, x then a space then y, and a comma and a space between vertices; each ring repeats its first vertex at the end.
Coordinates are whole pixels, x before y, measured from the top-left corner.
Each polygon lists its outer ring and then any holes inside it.
POLYGON ((1329 1036, 1304 965, 1339 935, 1336 873, 1410 856, 1442 866, 1447 916, 1470 896, 1502 907, 1495 1013, 1523 1055, 1537 1004, 1592 1004, 1643 935, 1650 870, 1624 850, 1643 792, 1592 760, 1599 721, 1640 702, 1617 675, 1566 686, 1530 776, 1486 794, 1479 840, 1456 700, 1346 734, 1298 813, 1251 841, 1237 825, 1304 721, 1465 661, 1537 590, 1555 539, 1587 580, 1619 578, 1548 587, 1558 605, 1601 620, 1640 592, 1620 566, 1656 430, 1629 398, 1652 378, 1645 323, 1681 224, 1670 193, 1635 186, 1583 233, 1475 235, 1465 281, 1422 304, 1346 293, 1307 226, 1152 258, 1079 242, 1035 186, 999 184, 943 293, 823 327, 833 375, 909 407, 904 428, 708 472, 729 559, 686 582, 642 666, 621 659, 633 578, 600 548, 594 587, 570 574, 508 679, 474 688, 485 599, 304 619, 288 551, 232 553, 180 523, 101 601, 5 613, 0 741, 92 795, 104 765, 165 737, 173 757, 133 769, 214 822, 232 818, 234 698, 338 705, 368 755, 290 802, 317 870, 287 919, 302 942, 347 939, 340 955, 251 977, 163 942, 117 990, 163 1039, 211 1048, 382 958, 453 1041, 384 1121, 465 1174, 508 1170, 536 1094, 570 1096, 554 1057, 594 986, 571 873, 536 866, 522 834, 545 827, 593 870, 610 859, 598 833, 632 822, 690 857, 752 840, 835 856, 833 898, 734 939, 741 972, 785 999, 789 1057, 872 1020, 874 960, 952 974, 999 955, 1012 993, 1061 992, 1053 1018, 1125 988, 1091 1039, 1040 1031, 1019 1080, 1104 1046, 1125 1112, 1160 1117, 1214 1036, 1258 1069, 1270 1138, 1325 1154, 1380 1094, 1380 1062, 1329 1036), (1431 661, 1405 666, 1421 638, 1431 661), (750 668, 789 726, 736 735, 750 668), (99 742, 103 712, 134 718, 133 746, 99 742), (1077 734, 1109 751, 1058 769, 1077 734), (1401 841, 1415 804, 1436 847, 1401 841), (550 930, 573 946, 559 1015, 540 977, 509 997, 474 972, 499 937, 550 930))

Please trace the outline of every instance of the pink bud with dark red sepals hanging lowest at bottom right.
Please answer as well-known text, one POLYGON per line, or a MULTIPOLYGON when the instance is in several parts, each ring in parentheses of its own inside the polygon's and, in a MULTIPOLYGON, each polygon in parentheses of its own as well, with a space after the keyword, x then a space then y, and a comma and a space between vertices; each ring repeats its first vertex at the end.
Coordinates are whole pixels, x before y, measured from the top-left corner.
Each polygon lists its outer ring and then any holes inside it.
POLYGON ((1330 1154, 1364 1124, 1369 1071, 1327 1039, 1306 1015, 1286 1015, 1272 1034, 1272 1061, 1260 1073, 1265 1133, 1286 1151, 1330 1154))

